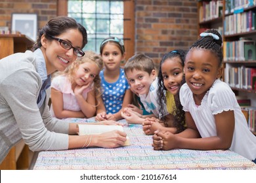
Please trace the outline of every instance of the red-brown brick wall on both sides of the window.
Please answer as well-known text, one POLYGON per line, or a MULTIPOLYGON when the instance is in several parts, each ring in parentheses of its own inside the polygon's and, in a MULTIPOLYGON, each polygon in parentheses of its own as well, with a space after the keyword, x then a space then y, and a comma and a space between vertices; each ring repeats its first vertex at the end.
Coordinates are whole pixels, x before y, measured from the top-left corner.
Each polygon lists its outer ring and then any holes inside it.
MULTIPOLYGON (((144 53, 159 63, 166 52, 186 49, 197 39, 197 0, 134 1, 135 54, 144 53)), ((11 28, 12 12, 37 13, 43 27, 57 16, 57 0, 0 0, 0 26, 11 28)))

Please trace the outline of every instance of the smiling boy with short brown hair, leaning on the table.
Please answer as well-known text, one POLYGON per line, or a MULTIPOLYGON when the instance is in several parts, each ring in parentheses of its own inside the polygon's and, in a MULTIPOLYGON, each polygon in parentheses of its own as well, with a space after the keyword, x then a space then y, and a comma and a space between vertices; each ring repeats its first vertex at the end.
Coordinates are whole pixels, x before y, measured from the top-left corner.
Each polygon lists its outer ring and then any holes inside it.
MULTIPOLYGON (((158 97, 156 93, 158 79, 152 59, 144 54, 137 54, 125 63, 124 69, 131 90, 139 95, 146 111, 152 112, 155 117, 158 117, 158 97)), ((125 108, 122 116, 133 124, 142 124, 144 118, 146 118, 131 108, 125 108)))

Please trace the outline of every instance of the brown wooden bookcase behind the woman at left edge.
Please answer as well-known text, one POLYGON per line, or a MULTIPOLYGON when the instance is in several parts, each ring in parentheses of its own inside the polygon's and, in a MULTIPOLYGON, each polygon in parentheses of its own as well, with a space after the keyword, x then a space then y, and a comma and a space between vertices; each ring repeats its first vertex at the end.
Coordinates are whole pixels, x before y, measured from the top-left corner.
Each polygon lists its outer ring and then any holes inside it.
MULTIPOLYGON (((16 52, 25 52, 33 46, 34 42, 26 35, 1 35, 0 34, 0 59, 16 52)), ((0 164, 1 170, 28 169, 32 161, 33 152, 23 140, 14 146, 7 157, 0 164)))

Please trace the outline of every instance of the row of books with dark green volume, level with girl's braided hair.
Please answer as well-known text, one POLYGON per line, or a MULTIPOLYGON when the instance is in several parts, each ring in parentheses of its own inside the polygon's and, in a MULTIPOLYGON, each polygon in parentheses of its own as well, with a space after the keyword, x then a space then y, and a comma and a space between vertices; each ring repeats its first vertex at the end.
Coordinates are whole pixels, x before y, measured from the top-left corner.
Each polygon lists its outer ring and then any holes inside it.
POLYGON ((239 41, 223 42, 224 61, 250 61, 256 60, 256 42, 240 38, 239 41))

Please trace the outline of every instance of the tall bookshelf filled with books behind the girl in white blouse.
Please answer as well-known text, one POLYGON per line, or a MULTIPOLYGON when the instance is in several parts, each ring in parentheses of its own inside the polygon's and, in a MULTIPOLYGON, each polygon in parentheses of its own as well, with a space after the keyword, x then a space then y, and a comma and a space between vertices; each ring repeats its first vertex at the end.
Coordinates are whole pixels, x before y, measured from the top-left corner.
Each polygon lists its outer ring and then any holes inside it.
POLYGON ((217 2, 198 1, 198 33, 214 28, 223 36, 223 80, 236 94, 238 103, 250 101, 249 107, 241 107, 249 129, 256 135, 256 0, 217 2), (222 6, 219 16, 207 18, 217 5, 222 6))

